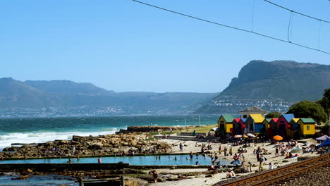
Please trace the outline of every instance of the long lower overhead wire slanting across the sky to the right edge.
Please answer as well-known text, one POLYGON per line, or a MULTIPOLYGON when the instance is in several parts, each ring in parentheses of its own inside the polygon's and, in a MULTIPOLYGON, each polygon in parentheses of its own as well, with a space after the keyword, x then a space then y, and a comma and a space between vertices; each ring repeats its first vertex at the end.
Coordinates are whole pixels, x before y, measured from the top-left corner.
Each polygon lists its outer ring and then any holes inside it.
POLYGON ((180 15, 180 16, 185 16, 185 17, 188 17, 188 18, 193 18, 193 19, 195 19, 195 20, 201 20, 201 21, 204 21, 204 22, 207 22, 207 23, 212 23, 212 24, 214 24, 214 25, 219 25, 219 26, 223 26, 223 27, 229 27, 229 28, 231 28, 231 29, 240 30, 240 31, 243 31, 243 32, 249 32, 249 33, 252 33, 252 34, 255 34, 255 35, 259 35, 259 36, 262 36, 262 37, 267 37, 267 38, 269 38, 269 39, 274 39, 274 40, 277 40, 277 41, 280 41, 280 42, 286 42, 286 43, 289 43, 289 44, 294 44, 294 45, 296 45, 296 46, 301 46, 301 47, 303 47, 303 48, 305 48, 305 49, 311 49, 311 50, 314 50, 314 51, 320 51, 320 52, 322 52, 322 53, 324 53, 324 54, 330 54, 330 52, 328 52, 328 51, 322 51, 322 50, 319 50, 319 49, 312 48, 312 47, 310 47, 310 46, 305 46, 305 45, 298 44, 298 43, 295 43, 295 42, 286 41, 286 40, 283 40, 283 39, 280 39, 280 38, 271 37, 271 36, 269 36, 269 35, 264 35, 264 34, 259 33, 259 32, 253 32, 252 30, 245 30, 245 29, 240 28, 240 27, 233 27, 233 26, 230 26, 230 25, 225 25, 225 24, 221 24, 221 23, 216 23, 216 22, 211 21, 211 20, 205 20, 205 19, 202 19, 202 18, 197 18, 197 17, 194 17, 194 16, 190 16, 190 15, 188 15, 188 14, 179 13, 179 12, 176 12, 176 11, 171 11, 171 10, 166 9, 166 8, 161 8, 161 7, 159 7, 159 6, 154 6, 154 5, 152 5, 152 4, 147 4, 147 3, 142 2, 142 1, 137 1, 137 0, 132 0, 132 1, 135 1, 135 2, 137 2, 137 3, 139 3, 139 4, 144 4, 144 5, 146 5, 146 6, 151 6, 151 7, 153 7, 153 8, 158 8, 158 9, 163 10, 163 11, 168 11, 168 12, 171 12, 171 13, 176 13, 176 14, 178 14, 178 15, 180 15))

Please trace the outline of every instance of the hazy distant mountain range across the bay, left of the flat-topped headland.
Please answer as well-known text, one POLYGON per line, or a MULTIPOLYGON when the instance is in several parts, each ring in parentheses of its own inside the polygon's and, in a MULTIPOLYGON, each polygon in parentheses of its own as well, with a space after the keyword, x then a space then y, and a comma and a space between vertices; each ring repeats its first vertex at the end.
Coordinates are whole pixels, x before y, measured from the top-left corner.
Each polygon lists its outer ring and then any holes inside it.
MULTIPOLYGON (((0 79, 0 108, 20 107, 121 107, 131 112, 178 111, 197 108, 217 93, 114 92, 90 83, 69 80, 32 81, 0 79)), ((123 112, 127 113, 127 112, 123 112)))

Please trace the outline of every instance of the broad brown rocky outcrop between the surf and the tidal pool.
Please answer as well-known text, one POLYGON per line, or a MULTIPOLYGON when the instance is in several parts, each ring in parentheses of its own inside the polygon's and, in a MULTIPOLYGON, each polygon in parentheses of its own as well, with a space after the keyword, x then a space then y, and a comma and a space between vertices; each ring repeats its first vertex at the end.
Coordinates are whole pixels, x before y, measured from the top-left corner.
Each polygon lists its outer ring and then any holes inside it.
POLYGON ((133 154, 164 153, 171 145, 154 139, 152 135, 118 134, 97 137, 73 136, 72 140, 55 140, 39 144, 6 147, 1 159, 59 158, 76 156, 127 156, 133 154))

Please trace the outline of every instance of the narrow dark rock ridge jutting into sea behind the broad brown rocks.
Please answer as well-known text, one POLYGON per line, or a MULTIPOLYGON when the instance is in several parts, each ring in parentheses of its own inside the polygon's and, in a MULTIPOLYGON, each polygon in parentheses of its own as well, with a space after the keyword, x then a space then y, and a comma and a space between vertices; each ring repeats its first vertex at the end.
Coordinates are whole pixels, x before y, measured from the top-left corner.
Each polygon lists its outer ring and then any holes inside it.
POLYGON ((121 129, 117 134, 120 133, 130 133, 130 132, 163 132, 169 130, 182 130, 182 127, 169 127, 169 126, 131 126, 126 130, 121 129))

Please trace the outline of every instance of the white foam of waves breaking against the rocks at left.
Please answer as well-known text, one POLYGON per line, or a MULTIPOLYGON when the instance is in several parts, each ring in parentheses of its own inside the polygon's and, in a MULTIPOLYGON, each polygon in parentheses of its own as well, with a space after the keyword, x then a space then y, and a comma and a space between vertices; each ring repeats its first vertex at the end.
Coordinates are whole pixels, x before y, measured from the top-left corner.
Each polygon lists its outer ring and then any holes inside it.
POLYGON ((13 132, 6 135, 0 135, 0 151, 5 147, 11 147, 13 143, 44 143, 54 140, 71 140, 73 135, 78 136, 97 136, 111 135, 117 131, 116 128, 107 131, 98 132, 13 132))

